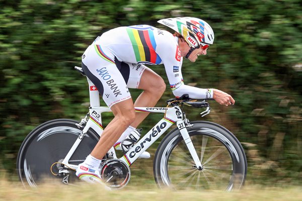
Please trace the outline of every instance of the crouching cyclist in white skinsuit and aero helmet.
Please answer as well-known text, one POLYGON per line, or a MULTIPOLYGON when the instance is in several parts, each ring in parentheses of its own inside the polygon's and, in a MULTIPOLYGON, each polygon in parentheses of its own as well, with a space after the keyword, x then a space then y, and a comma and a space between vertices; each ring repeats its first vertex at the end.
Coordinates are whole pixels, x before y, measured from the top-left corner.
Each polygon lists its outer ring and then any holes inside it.
MULTIPOLYGON (((213 98, 221 105, 235 104, 231 95, 218 89, 185 85, 181 73, 183 57, 195 62, 206 55, 214 33, 205 21, 185 17, 158 21, 175 31, 171 34, 148 25, 119 27, 97 37, 82 56, 82 67, 96 85, 114 119, 91 154, 79 164, 77 176, 88 182, 102 182, 101 159, 118 145, 148 113, 135 113, 134 107, 154 107, 166 89, 163 78, 144 64, 164 64, 175 96, 213 98), (133 104, 128 88, 142 89, 133 104)), ((149 157, 147 152, 143 157, 149 157)))

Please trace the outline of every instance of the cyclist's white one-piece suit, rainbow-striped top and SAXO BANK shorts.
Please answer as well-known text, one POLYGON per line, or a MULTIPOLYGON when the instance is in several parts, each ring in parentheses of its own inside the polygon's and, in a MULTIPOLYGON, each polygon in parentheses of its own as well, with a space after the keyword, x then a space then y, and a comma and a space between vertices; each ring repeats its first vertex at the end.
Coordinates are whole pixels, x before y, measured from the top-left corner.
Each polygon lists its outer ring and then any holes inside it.
POLYGON ((152 26, 119 27, 105 32, 82 58, 84 71, 109 107, 131 97, 127 87, 137 88, 146 68, 143 64, 164 64, 175 96, 187 93, 191 98, 212 98, 210 89, 184 84, 178 38, 152 26), (123 80, 125 83, 121 83, 123 80))

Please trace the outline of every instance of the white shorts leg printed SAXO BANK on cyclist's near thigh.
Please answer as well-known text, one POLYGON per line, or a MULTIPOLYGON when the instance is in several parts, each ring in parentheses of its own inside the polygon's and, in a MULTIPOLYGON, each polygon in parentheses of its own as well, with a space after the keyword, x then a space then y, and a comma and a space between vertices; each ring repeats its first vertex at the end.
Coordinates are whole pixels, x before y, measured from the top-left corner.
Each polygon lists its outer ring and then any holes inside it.
POLYGON ((108 107, 131 98, 127 84, 115 64, 114 55, 107 48, 89 46, 82 57, 82 66, 108 107))

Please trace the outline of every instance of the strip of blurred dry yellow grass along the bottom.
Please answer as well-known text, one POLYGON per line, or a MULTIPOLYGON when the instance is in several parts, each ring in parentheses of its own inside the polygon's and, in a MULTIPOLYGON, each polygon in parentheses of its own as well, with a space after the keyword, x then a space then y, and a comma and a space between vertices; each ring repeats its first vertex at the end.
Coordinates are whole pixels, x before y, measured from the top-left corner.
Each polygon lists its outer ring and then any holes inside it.
POLYGON ((122 190, 105 190, 98 185, 81 183, 78 186, 53 184, 47 182, 39 188, 24 188, 20 182, 0 180, 0 200, 302 200, 302 187, 264 188, 245 186, 242 190, 224 192, 208 191, 172 191, 156 187, 129 185, 122 190), (138 189, 139 188, 139 189, 138 189))

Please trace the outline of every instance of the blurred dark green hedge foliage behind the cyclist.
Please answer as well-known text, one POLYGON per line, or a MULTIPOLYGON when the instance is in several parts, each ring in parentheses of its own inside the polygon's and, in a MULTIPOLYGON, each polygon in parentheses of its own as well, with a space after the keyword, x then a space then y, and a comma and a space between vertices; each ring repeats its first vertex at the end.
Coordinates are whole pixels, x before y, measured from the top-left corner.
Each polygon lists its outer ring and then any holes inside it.
MULTIPOLYGON (((185 83, 218 88, 236 99, 235 107, 211 104, 206 120, 243 143, 248 179, 301 178, 301 1, 0 0, 0 7, 0 169, 14 171, 23 139, 40 123, 80 120, 88 112, 88 84, 73 66, 81 65, 98 35, 136 24, 169 30, 157 21, 191 16, 212 26, 215 43, 197 62, 184 61, 185 83)), ((163 66, 152 68, 166 78, 163 66)), ((171 96, 167 90, 158 106, 171 96)), ((187 114, 195 120, 198 112, 187 114)), ((155 123, 158 116, 147 121, 155 123)), ((152 174, 151 163, 137 171, 152 174)))

